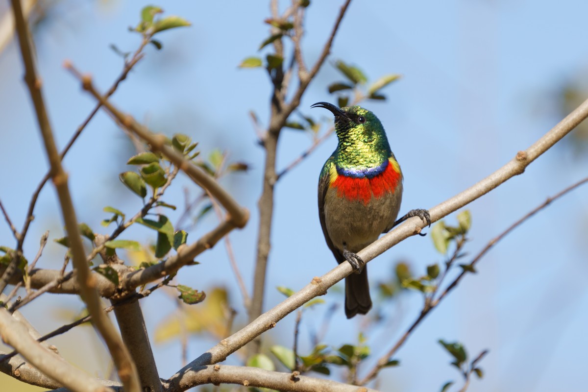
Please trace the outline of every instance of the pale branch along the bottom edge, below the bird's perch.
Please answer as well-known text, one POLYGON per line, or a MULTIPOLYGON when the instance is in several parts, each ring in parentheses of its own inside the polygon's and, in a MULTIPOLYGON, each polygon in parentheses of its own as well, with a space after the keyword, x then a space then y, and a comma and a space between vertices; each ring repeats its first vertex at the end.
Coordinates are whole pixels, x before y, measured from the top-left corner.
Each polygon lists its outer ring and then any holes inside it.
POLYGON ((298 371, 281 373, 256 367, 211 365, 189 373, 176 373, 165 386, 166 392, 180 392, 203 384, 238 384, 289 392, 377 392, 371 388, 347 385, 322 378, 300 376, 298 371))

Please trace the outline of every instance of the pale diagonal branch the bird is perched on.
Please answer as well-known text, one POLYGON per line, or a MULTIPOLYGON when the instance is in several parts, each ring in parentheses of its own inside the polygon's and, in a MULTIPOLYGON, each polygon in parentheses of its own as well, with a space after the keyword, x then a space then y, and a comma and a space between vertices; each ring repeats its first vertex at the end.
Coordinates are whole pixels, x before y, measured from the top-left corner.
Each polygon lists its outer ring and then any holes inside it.
MULTIPOLYGON (((588 100, 584 101, 582 105, 554 126, 552 130, 547 132, 527 150, 518 152, 516 158, 511 160, 505 166, 496 170, 496 172, 476 183, 469 189, 464 190, 458 195, 430 209, 429 213, 432 222, 436 222, 442 217, 455 212, 457 209, 466 206, 478 197, 490 192, 490 190, 506 182, 506 180, 511 177, 522 173, 526 166, 567 135, 567 133, 586 117, 588 117, 588 100)), ((426 223, 422 222, 418 217, 407 219, 402 225, 396 226, 385 236, 361 250, 358 253, 358 256, 365 262, 369 262, 400 241, 419 233, 425 225, 426 223)), ((198 366, 214 364, 225 360, 226 357, 240 349, 240 347, 244 346, 249 341, 255 339, 255 337, 275 327, 279 320, 298 309, 307 301, 316 296, 325 294, 329 287, 333 286, 352 272, 353 269, 349 263, 341 263, 322 277, 313 278, 312 282, 303 287, 298 293, 292 294, 292 296, 253 320, 243 329, 220 341, 219 344, 193 360, 188 366, 182 368, 179 373, 189 373, 194 371, 198 366)))

